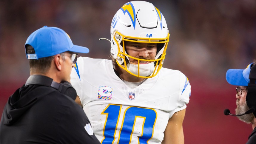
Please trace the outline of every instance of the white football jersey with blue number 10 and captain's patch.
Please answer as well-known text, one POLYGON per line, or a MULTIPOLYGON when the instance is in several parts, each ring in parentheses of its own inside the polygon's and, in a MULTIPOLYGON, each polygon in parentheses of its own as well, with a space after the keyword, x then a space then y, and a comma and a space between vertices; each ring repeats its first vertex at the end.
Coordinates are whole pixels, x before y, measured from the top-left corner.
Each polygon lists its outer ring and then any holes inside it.
POLYGON ((116 74, 112 60, 79 57, 71 84, 101 143, 161 143, 169 118, 186 108, 188 78, 161 68, 131 89, 116 74))

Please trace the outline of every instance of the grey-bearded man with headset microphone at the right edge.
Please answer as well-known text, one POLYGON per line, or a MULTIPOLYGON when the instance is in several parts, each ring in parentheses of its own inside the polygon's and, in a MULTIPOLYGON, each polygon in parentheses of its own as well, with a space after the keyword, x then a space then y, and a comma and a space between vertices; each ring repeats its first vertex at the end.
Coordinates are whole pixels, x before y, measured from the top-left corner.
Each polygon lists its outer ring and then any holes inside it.
POLYGON ((256 65, 249 64, 246 69, 229 69, 226 73, 226 80, 229 84, 238 86, 236 88, 235 114, 230 114, 226 109, 225 115, 238 116, 238 119, 252 124, 252 134, 246 144, 256 143, 256 65))

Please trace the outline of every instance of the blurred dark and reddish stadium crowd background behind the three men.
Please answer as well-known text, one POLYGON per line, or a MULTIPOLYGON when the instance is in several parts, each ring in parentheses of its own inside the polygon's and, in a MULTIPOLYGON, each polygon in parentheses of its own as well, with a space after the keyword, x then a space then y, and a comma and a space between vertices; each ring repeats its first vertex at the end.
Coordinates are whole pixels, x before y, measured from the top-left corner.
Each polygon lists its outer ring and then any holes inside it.
MULTIPOLYGON (((110 23, 128 1, 1 0, 0 116, 8 97, 29 77, 24 52, 27 37, 47 26, 65 30, 74 44, 88 47, 92 58, 110 58, 110 23)), ((225 116, 235 112, 235 87, 229 68, 244 69, 256 55, 255 0, 159 0, 170 42, 164 67, 183 72, 192 86, 183 122, 185 143, 241 144, 251 124, 225 116)))

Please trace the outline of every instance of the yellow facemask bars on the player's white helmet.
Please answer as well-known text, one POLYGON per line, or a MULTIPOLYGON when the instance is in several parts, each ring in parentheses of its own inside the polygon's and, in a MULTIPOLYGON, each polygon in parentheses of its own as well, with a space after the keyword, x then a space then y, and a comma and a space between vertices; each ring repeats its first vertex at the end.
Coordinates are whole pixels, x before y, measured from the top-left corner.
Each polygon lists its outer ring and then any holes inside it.
POLYGON ((118 66, 120 66, 122 69, 127 71, 129 74, 139 78, 152 78, 158 74, 158 72, 162 68, 164 58, 166 55, 166 48, 169 42, 169 33, 166 38, 138 38, 138 37, 125 36, 125 35, 122 35, 120 32, 115 31, 113 39, 116 44, 119 44, 117 46, 118 47, 117 58, 115 59, 118 66), (118 42, 120 38, 121 38, 121 43, 123 47, 118 42), (157 50, 158 53, 156 54, 156 57, 154 60, 145 60, 141 58, 134 58, 128 55, 125 52, 124 41, 131 41, 131 42, 137 42, 137 43, 156 43, 156 44, 165 43, 165 44, 163 48, 157 50), (120 47, 122 51, 120 50, 120 47), (132 64, 130 64, 129 60, 127 61, 126 58, 127 59, 132 58, 138 61, 138 64, 136 64, 136 66, 132 66, 132 67, 137 67, 137 70, 134 71, 130 69, 132 64), (122 64, 121 64, 121 61, 123 61, 122 64), (150 67, 150 66, 146 66, 146 64, 140 64, 140 61, 149 61, 151 63, 154 63, 154 65, 151 64, 154 67, 151 69, 150 68, 147 69, 147 67, 150 67))

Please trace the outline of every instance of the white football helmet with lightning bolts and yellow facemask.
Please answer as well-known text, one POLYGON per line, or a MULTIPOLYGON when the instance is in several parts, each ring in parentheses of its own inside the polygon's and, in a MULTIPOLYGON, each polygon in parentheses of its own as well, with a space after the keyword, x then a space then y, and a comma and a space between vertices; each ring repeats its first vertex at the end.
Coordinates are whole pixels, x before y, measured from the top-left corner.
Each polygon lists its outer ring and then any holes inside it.
POLYGON ((157 75, 164 62, 169 31, 164 16, 153 4, 146 1, 124 4, 113 17, 110 32, 111 55, 118 66, 140 78, 152 78, 157 75), (155 59, 144 60, 128 55, 123 47, 124 41, 157 43, 155 59), (131 64, 129 58, 137 60, 138 64, 131 64), (139 61, 151 63, 139 64, 139 61))

